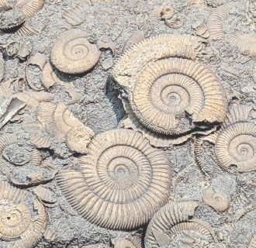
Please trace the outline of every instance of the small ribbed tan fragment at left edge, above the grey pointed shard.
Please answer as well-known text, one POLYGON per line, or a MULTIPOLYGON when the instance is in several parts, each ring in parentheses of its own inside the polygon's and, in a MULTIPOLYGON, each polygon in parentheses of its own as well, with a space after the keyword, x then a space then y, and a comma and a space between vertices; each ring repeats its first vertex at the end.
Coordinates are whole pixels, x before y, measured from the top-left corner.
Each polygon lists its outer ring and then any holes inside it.
POLYGON ((23 91, 24 88, 25 83, 22 77, 10 78, 8 81, 0 84, 0 98, 9 98, 14 94, 23 91))

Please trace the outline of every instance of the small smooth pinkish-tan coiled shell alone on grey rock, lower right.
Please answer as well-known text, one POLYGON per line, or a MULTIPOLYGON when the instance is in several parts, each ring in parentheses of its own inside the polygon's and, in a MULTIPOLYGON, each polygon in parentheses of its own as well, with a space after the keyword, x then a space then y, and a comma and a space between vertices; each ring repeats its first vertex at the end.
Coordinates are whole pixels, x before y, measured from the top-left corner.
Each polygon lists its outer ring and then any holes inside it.
POLYGON ((228 198, 225 195, 215 193, 211 188, 203 192, 202 198, 203 202, 214 208, 217 212, 224 212, 229 207, 228 198))

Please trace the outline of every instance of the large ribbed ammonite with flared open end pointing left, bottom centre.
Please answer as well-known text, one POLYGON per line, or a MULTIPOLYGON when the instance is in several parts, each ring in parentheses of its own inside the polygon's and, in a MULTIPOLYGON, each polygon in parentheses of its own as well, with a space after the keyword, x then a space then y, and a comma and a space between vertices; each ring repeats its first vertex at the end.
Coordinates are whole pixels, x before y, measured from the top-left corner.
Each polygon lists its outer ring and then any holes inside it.
POLYGON ((96 136, 81 172, 60 171, 57 182, 85 219, 109 229, 148 222, 171 190, 171 164, 140 133, 116 129, 96 136))

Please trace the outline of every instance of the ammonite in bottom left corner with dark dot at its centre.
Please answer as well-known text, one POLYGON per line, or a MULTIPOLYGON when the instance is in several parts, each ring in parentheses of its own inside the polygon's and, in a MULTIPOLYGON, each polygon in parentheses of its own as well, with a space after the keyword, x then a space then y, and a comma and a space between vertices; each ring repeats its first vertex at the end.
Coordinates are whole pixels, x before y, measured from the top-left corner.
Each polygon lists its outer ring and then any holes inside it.
POLYGON ((26 204, 26 191, 0 182, 0 240, 15 241, 12 248, 33 248, 47 229, 47 212, 35 200, 33 208, 26 204))

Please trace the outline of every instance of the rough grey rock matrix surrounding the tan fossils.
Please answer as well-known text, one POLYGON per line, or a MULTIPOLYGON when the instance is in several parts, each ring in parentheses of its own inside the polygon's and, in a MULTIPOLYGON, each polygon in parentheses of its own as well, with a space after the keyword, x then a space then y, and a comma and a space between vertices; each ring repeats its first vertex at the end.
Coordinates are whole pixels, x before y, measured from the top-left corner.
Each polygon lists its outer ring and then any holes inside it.
MULTIPOLYGON (((17 33, 0 33, 0 43, 5 44, 14 40, 18 43, 26 43, 29 47, 30 57, 38 52, 48 58, 55 38, 67 31, 67 29, 81 29, 87 34, 91 43, 97 43, 104 36, 108 36, 116 47, 116 54, 112 56, 112 51, 102 49, 99 63, 84 74, 67 75, 54 70, 57 77, 67 84, 73 83, 78 91, 77 102, 69 104, 70 95, 64 91, 61 85, 54 85, 50 88, 50 93, 54 94, 53 103, 64 102, 67 108, 73 112, 81 122, 91 128, 95 135, 107 130, 116 129, 118 122, 126 114, 123 104, 119 98, 119 90, 110 77, 112 64, 116 57, 122 53, 126 40, 138 29, 142 27, 146 37, 159 34, 187 34, 194 35, 195 30, 192 24, 199 19, 205 19, 206 23, 209 14, 225 0, 205 0, 201 2, 201 7, 192 5, 195 1, 186 0, 109 0, 109 1, 78 1, 78 0, 46 0, 43 9, 29 19, 29 24, 36 30, 41 30, 33 36, 17 33), (78 26, 72 27, 63 17, 67 9, 71 9, 78 3, 84 6, 82 16, 85 21, 78 26), (151 13, 157 7, 171 5, 182 21, 182 25, 176 29, 164 25, 159 21, 156 28, 151 18, 151 13)), ((256 2, 253 0, 240 1, 239 12, 230 14, 230 18, 223 22, 223 29, 237 29, 244 33, 255 32, 256 2), (254 5, 254 9, 249 7, 254 5), (249 6, 249 7, 248 7, 249 6)), ((255 46, 251 42, 251 46, 255 46)), ((25 77, 26 61, 22 62, 17 57, 11 57, 2 49, 5 60, 5 77, 3 81, 10 77, 25 77)), ((220 78, 227 94, 228 105, 243 104, 251 106, 253 109, 249 119, 256 124, 256 66, 255 57, 243 55, 236 47, 231 46, 227 40, 205 40, 200 62, 211 68, 220 78)), ((29 77, 37 87, 41 85, 40 70, 30 67, 29 77)), ((33 91, 26 84, 27 91, 33 91)), ((26 112, 24 119, 26 119, 26 112)), ((28 138, 26 130, 22 129, 22 122, 9 122, 1 130, 0 134, 19 133, 25 139, 28 138)), ((213 157, 213 144, 203 143, 199 157, 202 160, 203 170, 209 175, 206 177, 198 164, 195 162, 193 138, 180 145, 171 145, 164 148, 164 153, 171 161, 173 167, 173 188, 169 198, 174 201, 196 201, 199 207, 195 211, 195 217, 213 226, 216 234, 214 247, 246 247, 251 235, 256 231, 256 172, 245 172, 241 174, 231 174, 223 171, 215 162, 213 157), (226 195, 229 200, 229 208, 225 212, 216 212, 209 205, 202 201, 202 192, 208 188, 213 188, 219 194, 226 195)), ((13 145, 12 149, 17 149, 13 145)), ((6 150, 5 153, 12 153, 6 150)), ((29 148, 28 148, 29 149, 29 148)), ((22 150, 21 153, 29 152, 22 150)), ((50 163, 57 169, 71 169, 78 167, 79 154, 70 153, 66 146, 54 149, 40 149, 43 159, 51 158, 50 163), (56 150, 59 150, 56 153, 56 150)), ((11 154, 12 155, 12 154, 11 154)), ((10 156, 11 156, 10 155, 10 156)), ((28 174, 33 172, 44 172, 43 167, 24 166, 12 167, 12 171, 18 174, 17 180, 26 181, 28 174)), ((1 180, 6 180, 0 174, 1 180)), ((144 236, 147 226, 132 231, 114 231, 104 229, 81 218, 74 209, 67 203, 56 180, 48 182, 46 185, 52 191, 56 204, 47 208, 49 215, 48 227, 56 233, 54 241, 41 239, 36 245, 43 247, 113 247, 113 244, 131 235, 144 236), (94 246, 93 246, 94 247, 94 246)), ((32 198, 33 188, 27 188, 32 198)), ((0 241, 0 246, 5 248, 9 242, 0 241)), ((179 247, 177 245, 177 247, 179 247)), ((190 246, 188 246, 190 247, 190 246)), ((191 246, 195 247, 195 246, 191 246)))

